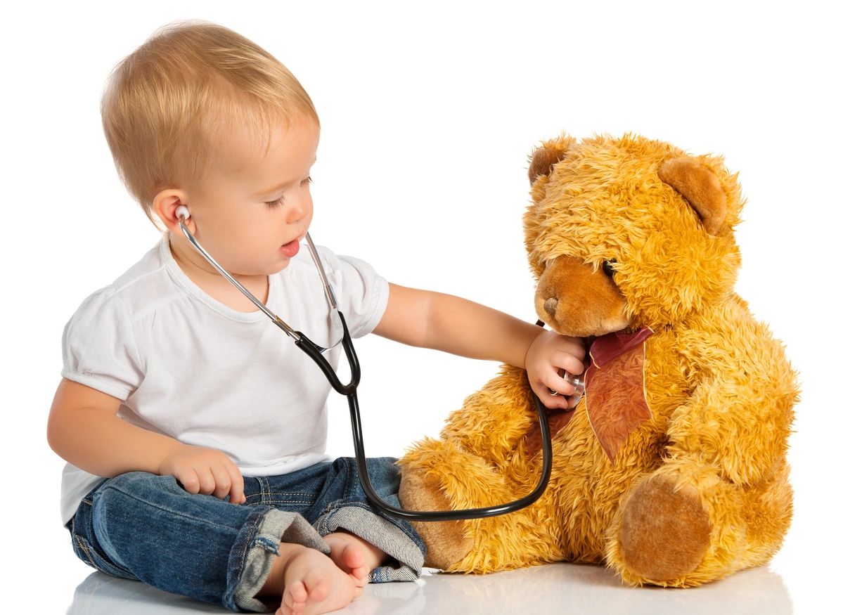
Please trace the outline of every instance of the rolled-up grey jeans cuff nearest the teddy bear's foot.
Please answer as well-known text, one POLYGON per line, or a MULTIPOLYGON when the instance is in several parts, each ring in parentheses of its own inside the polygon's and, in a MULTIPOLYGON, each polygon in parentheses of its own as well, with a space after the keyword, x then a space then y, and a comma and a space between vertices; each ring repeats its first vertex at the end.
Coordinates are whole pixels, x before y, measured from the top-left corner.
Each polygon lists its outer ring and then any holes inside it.
POLYGON ((364 505, 343 504, 333 507, 320 516, 315 524, 321 536, 338 529, 352 532, 385 554, 398 561, 400 566, 379 566, 369 574, 373 583, 416 580, 421 575, 424 553, 415 541, 395 524, 375 514, 364 505))

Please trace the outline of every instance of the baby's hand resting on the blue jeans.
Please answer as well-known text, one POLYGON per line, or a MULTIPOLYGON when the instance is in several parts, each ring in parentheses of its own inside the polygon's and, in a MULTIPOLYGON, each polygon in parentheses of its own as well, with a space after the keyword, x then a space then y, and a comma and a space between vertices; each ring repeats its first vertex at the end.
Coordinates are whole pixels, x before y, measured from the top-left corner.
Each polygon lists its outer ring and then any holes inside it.
POLYGON ((243 474, 222 451, 183 444, 161 460, 161 476, 175 476, 191 494, 228 495, 232 504, 245 504, 243 474))

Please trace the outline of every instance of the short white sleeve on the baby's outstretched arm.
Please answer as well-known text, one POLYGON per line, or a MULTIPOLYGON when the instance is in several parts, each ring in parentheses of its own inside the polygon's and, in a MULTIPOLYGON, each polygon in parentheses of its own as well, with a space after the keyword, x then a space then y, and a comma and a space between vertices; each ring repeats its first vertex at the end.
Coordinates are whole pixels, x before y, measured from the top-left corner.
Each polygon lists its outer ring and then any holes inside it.
POLYGON ((336 255, 331 260, 339 286, 337 301, 349 332, 353 338, 372 333, 386 311, 389 282, 364 260, 346 255, 336 255))

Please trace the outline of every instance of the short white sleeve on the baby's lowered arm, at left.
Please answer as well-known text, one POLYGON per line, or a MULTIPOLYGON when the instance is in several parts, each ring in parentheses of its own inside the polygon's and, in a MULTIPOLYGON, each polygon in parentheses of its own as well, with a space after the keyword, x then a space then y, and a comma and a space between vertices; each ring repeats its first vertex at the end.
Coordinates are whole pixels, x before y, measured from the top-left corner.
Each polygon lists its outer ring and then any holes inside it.
POLYGON ((62 361, 63 377, 124 401, 140 386, 132 319, 113 291, 94 292, 67 322, 62 361))

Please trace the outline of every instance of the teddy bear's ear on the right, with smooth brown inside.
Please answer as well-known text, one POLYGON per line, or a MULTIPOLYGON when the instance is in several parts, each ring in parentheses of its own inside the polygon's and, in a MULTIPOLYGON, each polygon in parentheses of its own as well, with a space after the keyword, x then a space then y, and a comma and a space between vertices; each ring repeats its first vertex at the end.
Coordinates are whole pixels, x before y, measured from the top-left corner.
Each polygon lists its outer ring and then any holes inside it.
POLYGON ((668 158, 658 167, 658 177, 688 201, 706 233, 721 231, 727 214, 726 191, 710 168, 696 158, 668 158))

